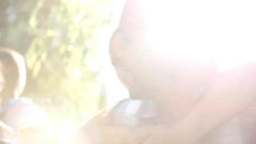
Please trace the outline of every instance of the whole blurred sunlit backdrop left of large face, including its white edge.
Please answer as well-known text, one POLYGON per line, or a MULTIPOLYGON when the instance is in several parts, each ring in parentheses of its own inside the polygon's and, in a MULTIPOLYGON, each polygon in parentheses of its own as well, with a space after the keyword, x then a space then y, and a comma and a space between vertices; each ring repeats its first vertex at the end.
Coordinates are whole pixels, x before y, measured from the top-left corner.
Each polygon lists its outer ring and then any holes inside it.
POLYGON ((39 103, 56 129, 83 122, 127 97, 108 57, 124 2, 0 1, 0 45, 26 61, 22 97, 39 103))

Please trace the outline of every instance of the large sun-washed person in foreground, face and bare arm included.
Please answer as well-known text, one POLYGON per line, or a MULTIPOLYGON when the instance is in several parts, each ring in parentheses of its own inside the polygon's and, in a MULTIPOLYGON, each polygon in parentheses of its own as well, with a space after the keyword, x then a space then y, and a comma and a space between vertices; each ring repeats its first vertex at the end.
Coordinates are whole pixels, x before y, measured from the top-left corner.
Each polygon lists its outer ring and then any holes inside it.
POLYGON ((255 101, 256 63, 219 73, 212 61, 160 55, 146 37, 146 16, 140 10, 138 1, 126 2, 109 53, 130 97, 157 101, 162 122, 137 129, 111 126, 106 125, 107 112, 103 112, 73 139, 81 143, 255 143, 255 111, 243 112, 255 101), (197 93, 202 87, 203 92, 197 93))

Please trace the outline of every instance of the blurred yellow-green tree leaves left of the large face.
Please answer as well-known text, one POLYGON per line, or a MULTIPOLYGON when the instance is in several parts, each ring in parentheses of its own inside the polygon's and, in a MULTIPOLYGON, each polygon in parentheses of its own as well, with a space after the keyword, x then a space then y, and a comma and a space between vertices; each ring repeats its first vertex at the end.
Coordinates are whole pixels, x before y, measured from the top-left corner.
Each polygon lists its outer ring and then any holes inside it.
POLYGON ((61 97, 69 104, 58 109, 70 117, 78 111, 76 119, 81 119, 84 111, 90 115, 101 108, 104 85, 96 79, 101 64, 96 62, 94 49, 109 26, 113 3, 114 0, 10 1, 11 15, 16 18, 9 23, 2 45, 25 57, 25 97, 37 99, 44 95, 39 100, 42 104, 61 97), (66 112, 68 107, 71 110, 66 112))

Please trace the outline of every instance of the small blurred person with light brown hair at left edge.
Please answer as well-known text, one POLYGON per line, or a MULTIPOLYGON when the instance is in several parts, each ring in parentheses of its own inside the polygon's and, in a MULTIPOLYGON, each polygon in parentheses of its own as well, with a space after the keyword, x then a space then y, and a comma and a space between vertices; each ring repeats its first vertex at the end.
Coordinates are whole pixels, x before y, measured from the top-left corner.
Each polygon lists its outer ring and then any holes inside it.
POLYGON ((16 51, 1 48, 0 63, 3 73, 1 94, 1 121, 13 130, 12 142, 50 142, 49 117, 31 99, 20 98, 26 83, 24 58, 16 51))

